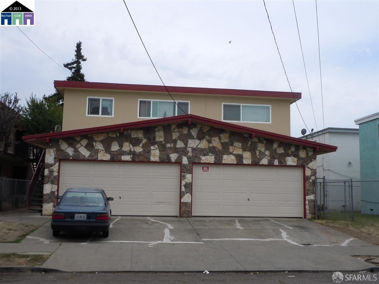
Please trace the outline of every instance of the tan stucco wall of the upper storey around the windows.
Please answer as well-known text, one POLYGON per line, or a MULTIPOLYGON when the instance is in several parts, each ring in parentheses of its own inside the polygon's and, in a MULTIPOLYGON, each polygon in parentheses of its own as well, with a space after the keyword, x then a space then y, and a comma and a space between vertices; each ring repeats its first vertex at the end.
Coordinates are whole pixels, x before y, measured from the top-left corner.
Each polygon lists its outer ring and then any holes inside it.
MULTIPOLYGON (((247 103, 271 105, 271 124, 235 123, 290 135, 290 103, 293 100, 280 98, 260 98, 230 95, 172 94, 175 100, 190 101, 190 113, 210 119, 222 120, 222 103, 247 103)), ((90 89, 66 89, 62 130, 127 123, 138 120, 138 99, 170 100, 168 94, 157 92, 128 92, 90 89), (114 98, 114 117, 86 116, 87 97, 114 98)))

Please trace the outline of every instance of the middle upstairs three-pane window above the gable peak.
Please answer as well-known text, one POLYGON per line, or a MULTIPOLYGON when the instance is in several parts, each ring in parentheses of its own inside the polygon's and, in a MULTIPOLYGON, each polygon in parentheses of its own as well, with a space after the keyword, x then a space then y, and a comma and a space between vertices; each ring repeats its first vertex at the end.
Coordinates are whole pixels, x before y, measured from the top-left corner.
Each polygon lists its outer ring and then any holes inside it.
POLYGON ((189 101, 176 103, 171 100, 138 100, 138 118, 161 118, 189 113, 189 101))

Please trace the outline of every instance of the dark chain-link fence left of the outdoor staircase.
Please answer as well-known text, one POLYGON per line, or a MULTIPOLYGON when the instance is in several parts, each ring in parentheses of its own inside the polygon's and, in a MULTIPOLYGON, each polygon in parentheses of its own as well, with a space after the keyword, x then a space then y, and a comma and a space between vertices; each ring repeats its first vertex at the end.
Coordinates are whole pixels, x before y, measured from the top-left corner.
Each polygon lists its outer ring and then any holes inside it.
POLYGON ((26 179, 0 177, 0 211, 27 206, 29 183, 26 179))

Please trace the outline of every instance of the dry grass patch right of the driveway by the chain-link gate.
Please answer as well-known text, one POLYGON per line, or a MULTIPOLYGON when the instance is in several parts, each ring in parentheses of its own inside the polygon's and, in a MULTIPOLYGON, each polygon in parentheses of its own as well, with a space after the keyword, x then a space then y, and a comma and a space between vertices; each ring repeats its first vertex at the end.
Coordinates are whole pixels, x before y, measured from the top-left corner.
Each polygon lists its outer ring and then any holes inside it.
POLYGON ((369 241, 369 240, 366 240, 366 241, 372 242, 374 244, 379 244, 379 216, 378 215, 354 213, 354 221, 351 221, 350 214, 347 214, 346 217, 348 221, 345 221, 345 213, 340 213, 340 212, 330 213, 329 212, 328 220, 318 219, 314 221, 321 225, 333 227, 337 230, 338 228, 346 229, 348 231, 341 230, 346 234, 350 234, 349 231, 359 233, 356 236, 351 234, 351 236, 357 237, 359 239, 365 240, 364 235, 366 235, 368 237, 371 237, 377 240, 374 242, 369 241))

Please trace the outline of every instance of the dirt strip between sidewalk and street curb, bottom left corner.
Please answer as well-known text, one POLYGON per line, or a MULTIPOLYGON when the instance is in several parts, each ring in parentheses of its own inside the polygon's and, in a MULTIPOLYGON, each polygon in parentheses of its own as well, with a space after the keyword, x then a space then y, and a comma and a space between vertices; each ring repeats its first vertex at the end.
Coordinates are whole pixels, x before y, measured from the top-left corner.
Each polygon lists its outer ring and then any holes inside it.
POLYGON ((3 266, 36 266, 44 264, 49 257, 45 254, 0 253, 0 263, 3 266))

